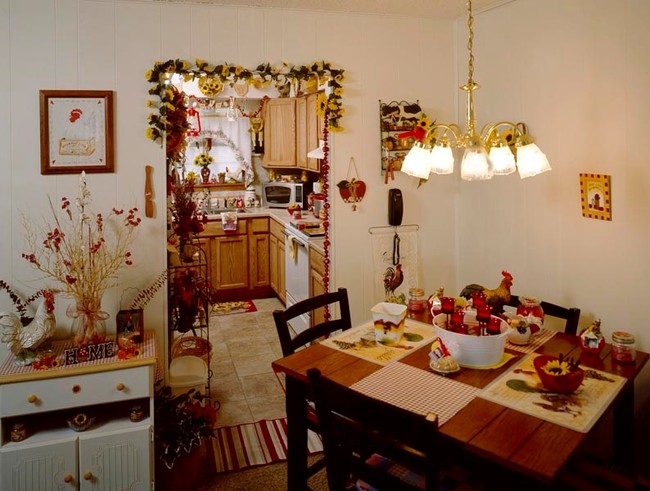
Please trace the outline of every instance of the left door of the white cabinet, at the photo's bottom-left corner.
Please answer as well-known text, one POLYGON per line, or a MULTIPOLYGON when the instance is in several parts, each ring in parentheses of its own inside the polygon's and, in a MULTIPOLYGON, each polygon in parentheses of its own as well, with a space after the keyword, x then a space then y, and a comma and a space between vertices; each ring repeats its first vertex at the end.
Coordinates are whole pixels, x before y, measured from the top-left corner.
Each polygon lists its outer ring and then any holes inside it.
POLYGON ((41 441, 16 448, 4 446, 0 452, 0 470, 3 491, 78 489, 77 438, 59 439, 50 444, 41 441))

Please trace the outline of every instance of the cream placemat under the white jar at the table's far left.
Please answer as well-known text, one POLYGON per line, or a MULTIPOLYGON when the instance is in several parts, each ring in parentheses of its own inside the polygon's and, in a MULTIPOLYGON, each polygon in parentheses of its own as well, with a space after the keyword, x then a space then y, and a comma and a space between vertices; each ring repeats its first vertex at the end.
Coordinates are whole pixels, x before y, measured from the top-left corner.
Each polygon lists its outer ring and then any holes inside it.
POLYGON ((404 334, 405 336, 402 336, 402 340, 397 345, 378 343, 375 341, 374 323, 369 321, 329 337, 321 341, 321 344, 379 365, 387 365, 412 353, 414 349, 433 342, 436 337, 432 324, 412 319, 406 319, 404 334))

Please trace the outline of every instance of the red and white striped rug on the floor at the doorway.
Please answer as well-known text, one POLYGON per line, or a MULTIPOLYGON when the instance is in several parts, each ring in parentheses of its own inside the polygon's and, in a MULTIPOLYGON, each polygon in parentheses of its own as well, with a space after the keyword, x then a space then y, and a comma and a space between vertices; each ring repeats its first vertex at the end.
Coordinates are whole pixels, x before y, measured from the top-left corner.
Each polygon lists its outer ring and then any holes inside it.
MULTIPOLYGON (((271 464, 287 458, 286 418, 217 428, 211 440, 214 472, 228 472, 271 464)), ((320 437, 309 432, 309 452, 321 452, 320 437)))

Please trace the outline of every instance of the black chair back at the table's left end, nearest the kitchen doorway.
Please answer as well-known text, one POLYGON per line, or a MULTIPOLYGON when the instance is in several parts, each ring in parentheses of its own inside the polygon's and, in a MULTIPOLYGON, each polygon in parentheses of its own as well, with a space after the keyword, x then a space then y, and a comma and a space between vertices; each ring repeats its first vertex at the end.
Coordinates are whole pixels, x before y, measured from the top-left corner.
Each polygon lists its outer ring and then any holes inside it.
POLYGON ((350 303, 348 301, 348 291, 345 288, 339 288, 335 292, 323 293, 314 297, 307 298, 298 303, 295 303, 285 310, 273 311, 273 319, 275 320, 275 327, 278 331, 280 338, 280 346, 284 356, 295 353, 298 348, 302 348, 312 343, 313 341, 327 336, 338 330, 345 331, 352 327, 352 320, 350 318, 350 303), (321 322, 309 329, 293 335, 289 321, 300 315, 313 312, 329 305, 330 313, 333 315, 335 306, 338 306, 339 316, 336 319, 321 322))

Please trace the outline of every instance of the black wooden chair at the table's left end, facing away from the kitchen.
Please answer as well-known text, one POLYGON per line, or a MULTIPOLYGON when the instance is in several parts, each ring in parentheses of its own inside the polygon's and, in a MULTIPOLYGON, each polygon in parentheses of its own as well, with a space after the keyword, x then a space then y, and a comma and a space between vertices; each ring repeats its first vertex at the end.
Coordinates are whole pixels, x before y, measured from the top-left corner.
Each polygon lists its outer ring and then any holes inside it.
MULTIPOLYGON (((273 319, 275 327, 280 338, 280 347, 283 356, 289 356, 300 348, 303 348, 314 341, 323 338, 339 330, 347 330, 352 327, 350 317, 350 303, 348 300, 348 291, 346 288, 339 288, 335 292, 323 293, 316 295, 300 302, 297 302, 285 310, 274 310, 273 319), (309 327, 305 331, 295 334, 289 322, 300 315, 313 313, 318 309, 329 307, 332 317, 309 327), (338 306, 338 315, 334 318, 334 310, 338 306)), ((276 373, 278 381, 282 388, 286 390, 281 374, 276 373)), ((306 423, 307 429, 320 435, 320 422, 314 410, 313 401, 307 401, 306 404, 306 423)), ((311 463, 307 469, 307 477, 314 475, 325 467, 325 458, 320 458, 311 463)))

